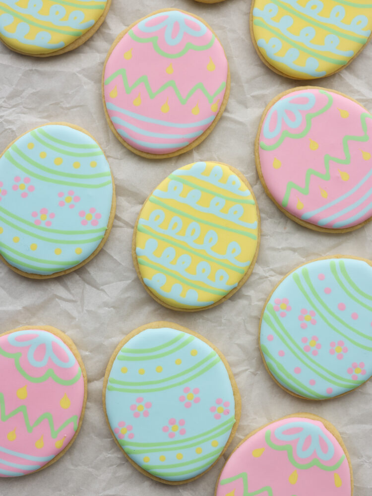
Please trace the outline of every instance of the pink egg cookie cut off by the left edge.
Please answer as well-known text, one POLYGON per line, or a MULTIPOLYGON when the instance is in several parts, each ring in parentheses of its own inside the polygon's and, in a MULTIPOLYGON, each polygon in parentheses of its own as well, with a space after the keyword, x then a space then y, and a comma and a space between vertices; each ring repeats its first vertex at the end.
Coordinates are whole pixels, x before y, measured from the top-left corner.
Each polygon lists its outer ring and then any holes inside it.
POLYGON ((54 327, 0 335, 0 477, 57 461, 80 430, 86 373, 71 339, 54 327))

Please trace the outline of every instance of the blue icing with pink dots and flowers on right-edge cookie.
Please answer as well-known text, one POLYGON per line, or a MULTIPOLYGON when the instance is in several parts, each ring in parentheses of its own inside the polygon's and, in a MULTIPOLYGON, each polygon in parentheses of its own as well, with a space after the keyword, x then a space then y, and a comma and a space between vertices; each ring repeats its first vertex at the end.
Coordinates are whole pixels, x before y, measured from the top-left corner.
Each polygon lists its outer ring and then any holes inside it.
POLYGON ((372 267, 352 258, 312 261, 275 289, 261 351, 286 389, 309 399, 347 393, 372 375, 372 267))

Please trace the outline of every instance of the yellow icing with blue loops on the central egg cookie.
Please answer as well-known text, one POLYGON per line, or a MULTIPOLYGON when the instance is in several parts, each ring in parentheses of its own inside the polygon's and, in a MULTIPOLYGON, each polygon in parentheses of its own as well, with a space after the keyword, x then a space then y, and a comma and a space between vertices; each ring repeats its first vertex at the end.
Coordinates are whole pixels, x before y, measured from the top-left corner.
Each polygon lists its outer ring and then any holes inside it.
POLYGON ((223 164, 177 169, 140 213, 136 255, 144 284, 162 302, 201 309, 246 275, 258 248, 257 205, 248 186, 223 164))

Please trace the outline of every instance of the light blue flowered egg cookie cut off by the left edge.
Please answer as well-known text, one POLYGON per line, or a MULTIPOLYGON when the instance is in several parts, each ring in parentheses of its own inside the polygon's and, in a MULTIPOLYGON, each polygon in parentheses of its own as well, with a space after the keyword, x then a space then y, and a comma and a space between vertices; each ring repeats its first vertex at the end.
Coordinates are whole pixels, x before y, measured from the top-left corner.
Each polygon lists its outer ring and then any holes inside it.
POLYGON ((27 277, 74 270, 104 245, 115 215, 107 159, 72 124, 47 124, 0 156, 0 256, 27 277))

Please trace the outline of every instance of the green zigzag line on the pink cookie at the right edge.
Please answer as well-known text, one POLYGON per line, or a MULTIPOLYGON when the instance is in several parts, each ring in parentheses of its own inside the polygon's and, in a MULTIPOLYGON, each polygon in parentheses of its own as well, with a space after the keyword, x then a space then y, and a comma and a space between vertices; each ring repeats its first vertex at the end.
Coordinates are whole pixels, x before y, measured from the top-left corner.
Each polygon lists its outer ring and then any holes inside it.
POLYGON ((343 147, 343 151, 345 154, 344 159, 332 157, 331 155, 329 155, 329 153, 326 153, 324 155, 325 173, 321 173, 321 172, 316 171, 315 169, 310 168, 306 171, 305 186, 304 187, 298 186, 293 181, 290 181, 287 184, 286 194, 284 195, 284 198, 282 201, 283 207, 286 207, 288 205, 288 201, 289 201, 289 197, 290 197, 292 189, 296 189, 297 191, 299 191, 302 194, 309 194, 311 176, 315 176, 317 178, 323 179, 324 181, 329 181, 331 178, 331 175, 329 173, 329 162, 331 160, 332 160, 332 162, 335 162, 336 164, 342 164, 342 165, 349 165, 350 164, 351 155, 350 155, 350 149, 349 149, 348 141, 364 142, 364 141, 368 141, 370 139, 370 136, 368 135, 368 129, 367 129, 367 122, 366 122, 367 119, 372 119, 372 115, 368 114, 367 112, 364 112, 361 115, 361 124, 362 124, 362 129, 364 131, 363 136, 357 136, 357 135, 353 136, 351 134, 346 134, 346 136, 344 136, 342 138, 342 147, 343 147))

